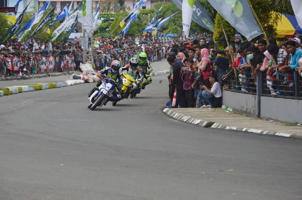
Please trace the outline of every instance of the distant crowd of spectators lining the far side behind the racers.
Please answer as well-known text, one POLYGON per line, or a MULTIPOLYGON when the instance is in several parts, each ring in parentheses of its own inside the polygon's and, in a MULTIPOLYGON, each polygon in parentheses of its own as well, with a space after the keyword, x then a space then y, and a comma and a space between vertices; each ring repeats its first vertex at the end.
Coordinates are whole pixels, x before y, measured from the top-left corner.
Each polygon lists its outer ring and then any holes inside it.
MULTIPOLYGON (((138 55, 144 51, 148 55, 150 62, 161 61, 166 57, 167 49, 171 47, 173 42, 161 42, 154 37, 127 37, 125 40, 115 40, 114 38, 96 37, 93 40, 93 55, 94 67, 96 70, 101 70, 105 66, 109 66, 111 60, 119 60, 123 65, 128 64, 131 57, 138 55)), ((18 42, 17 39, 10 39, 0 47, 0 75, 3 76, 17 76, 40 74, 47 72, 42 69, 42 57, 48 58, 55 56, 56 66, 51 69, 55 72, 62 72, 62 62, 64 56, 70 55, 74 59, 75 67, 68 70, 79 70, 80 63, 83 60, 83 43, 75 37, 72 42, 60 43, 42 41, 39 38, 33 38, 28 41, 18 42), (14 71, 9 69, 5 62, 5 57, 13 58, 18 57, 21 60, 20 70, 14 71)))

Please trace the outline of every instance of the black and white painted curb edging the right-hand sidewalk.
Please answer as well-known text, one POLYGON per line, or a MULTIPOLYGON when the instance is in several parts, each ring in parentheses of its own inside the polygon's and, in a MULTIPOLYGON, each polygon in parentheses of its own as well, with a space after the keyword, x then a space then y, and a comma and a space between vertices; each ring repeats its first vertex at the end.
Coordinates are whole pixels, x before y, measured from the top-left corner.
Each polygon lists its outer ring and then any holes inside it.
POLYGON ((163 112, 175 120, 179 120, 181 122, 186 122, 186 123, 197 125, 197 126, 204 127, 204 128, 213 128, 213 129, 253 133, 253 134, 260 134, 260 135, 271 135, 271 136, 278 136, 278 137, 302 139, 302 136, 296 135, 296 134, 272 132, 272 131, 265 131, 265 130, 260 130, 260 129, 240 128, 240 127, 234 127, 234 126, 229 126, 229 125, 225 125, 225 124, 220 124, 217 122, 208 122, 208 121, 205 121, 202 119, 193 118, 191 116, 187 116, 187 115, 178 113, 169 108, 165 108, 163 110, 163 112))

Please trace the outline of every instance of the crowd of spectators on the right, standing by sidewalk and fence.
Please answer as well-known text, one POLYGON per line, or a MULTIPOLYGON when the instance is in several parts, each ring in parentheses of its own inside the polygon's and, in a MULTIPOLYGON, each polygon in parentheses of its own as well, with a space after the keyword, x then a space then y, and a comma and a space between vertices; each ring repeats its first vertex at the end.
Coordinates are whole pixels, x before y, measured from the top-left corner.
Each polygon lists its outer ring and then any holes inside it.
POLYGON ((269 45, 265 39, 244 42, 239 34, 232 40, 226 37, 230 47, 223 36, 220 50, 204 38, 173 44, 167 58, 171 65, 168 107, 221 107, 222 89, 256 92, 259 73, 264 74, 264 93, 294 95, 294 78, 302 76, 302 36, 281 45, 273 37, 269 45))

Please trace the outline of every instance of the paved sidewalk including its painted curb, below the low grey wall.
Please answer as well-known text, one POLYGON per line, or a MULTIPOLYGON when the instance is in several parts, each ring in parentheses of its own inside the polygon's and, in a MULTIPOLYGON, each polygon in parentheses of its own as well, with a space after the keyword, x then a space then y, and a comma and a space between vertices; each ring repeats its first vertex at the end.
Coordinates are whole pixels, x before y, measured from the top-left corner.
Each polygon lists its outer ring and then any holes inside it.
POLYGON ((302 139, 302 126, 293 126, 294 124, 286 124, 281 122, 268 122, 268 120, 251 118, 233 112, 227 113, 220 108, 166 108, 163 110, 163 112, 176 120, 205 128, 302 139))

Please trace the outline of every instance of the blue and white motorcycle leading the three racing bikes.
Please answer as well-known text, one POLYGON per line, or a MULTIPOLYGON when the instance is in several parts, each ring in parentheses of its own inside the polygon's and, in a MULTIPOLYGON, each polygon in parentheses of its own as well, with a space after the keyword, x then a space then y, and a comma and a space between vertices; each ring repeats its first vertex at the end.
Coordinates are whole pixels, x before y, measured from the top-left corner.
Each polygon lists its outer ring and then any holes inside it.
POLYGON ((107 99, 112 97, 112 92, 116 87, 116 81, 111 78, 105 78, 105 81, 99 86, 98 89, 88 98, 90 104, 88 108, 95 110, 97 107, 102 107, 107 99))

